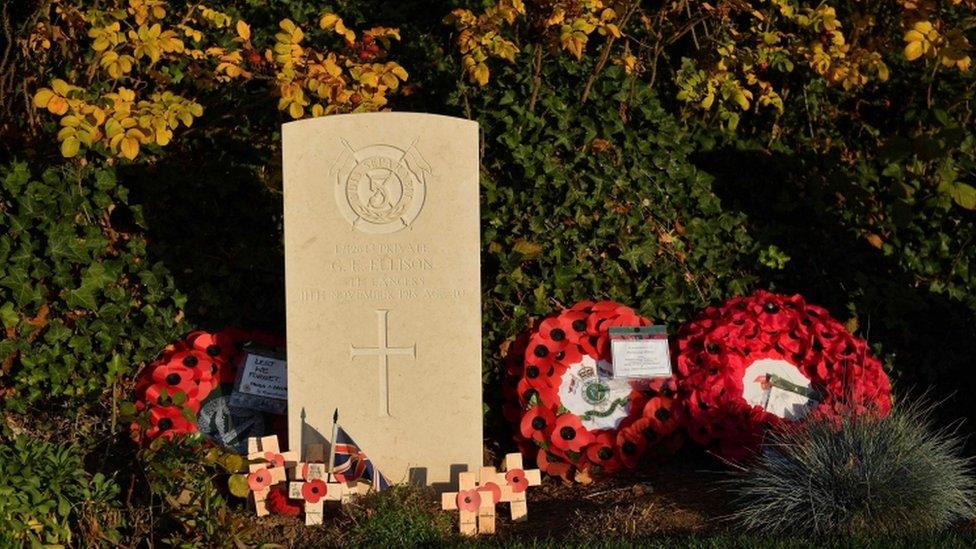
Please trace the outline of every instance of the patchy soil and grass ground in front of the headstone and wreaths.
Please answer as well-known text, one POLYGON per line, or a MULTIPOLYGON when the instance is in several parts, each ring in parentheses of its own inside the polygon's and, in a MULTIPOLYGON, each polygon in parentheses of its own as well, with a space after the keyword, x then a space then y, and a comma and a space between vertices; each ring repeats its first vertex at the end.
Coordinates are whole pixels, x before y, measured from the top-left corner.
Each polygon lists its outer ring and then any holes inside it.
MULTIPOLYGON (((545 478, 529 490, 529 519, 513 523, 499 506, 494 536, 456 534, 456 513, 439 510, 436 494, 400 487, 367 496, 344 509, 327 508, 322 526, 300 519, 256 519, 252 541, 289 547, 451 545, 505 547, 972 547, 976 532, 960 528, 911 539, 817 541, 770 538, 736 530, 728 519, 732 495, 727 470, 715 460, 684 451, 658 471, 590 485, 545 478)), ((241 511, 249 513, 249 511, 241 511)))

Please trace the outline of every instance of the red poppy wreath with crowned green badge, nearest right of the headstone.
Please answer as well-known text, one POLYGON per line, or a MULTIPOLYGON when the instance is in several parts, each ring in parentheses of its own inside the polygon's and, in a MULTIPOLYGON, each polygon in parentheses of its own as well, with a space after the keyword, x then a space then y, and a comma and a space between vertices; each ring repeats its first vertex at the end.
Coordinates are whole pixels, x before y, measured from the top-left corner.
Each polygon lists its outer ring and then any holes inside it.
POLYGON ((610 375, 610 327, 650 323, 619 303, 584 301, 510 346, 504 414, 540 469, 597 478, 663 460, 681 445, 673 380, 610 375))

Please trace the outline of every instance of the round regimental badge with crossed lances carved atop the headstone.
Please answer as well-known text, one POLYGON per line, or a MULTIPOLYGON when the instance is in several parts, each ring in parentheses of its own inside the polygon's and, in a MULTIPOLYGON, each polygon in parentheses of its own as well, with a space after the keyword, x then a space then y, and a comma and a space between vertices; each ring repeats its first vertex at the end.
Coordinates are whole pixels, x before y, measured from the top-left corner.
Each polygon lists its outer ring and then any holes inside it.
POLYGON ((341 139, 342 154, 329 172, 336 204, 356 229, 394 233, 410 226, 424 207, 430 165, 417 150, 376 144, 355 149, 341 139))

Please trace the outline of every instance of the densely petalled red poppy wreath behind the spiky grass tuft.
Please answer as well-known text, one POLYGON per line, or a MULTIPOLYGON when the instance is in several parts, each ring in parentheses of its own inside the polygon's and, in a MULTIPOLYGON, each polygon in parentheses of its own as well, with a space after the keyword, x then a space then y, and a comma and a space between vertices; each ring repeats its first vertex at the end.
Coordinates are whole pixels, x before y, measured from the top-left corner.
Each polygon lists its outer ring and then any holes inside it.
POLYGON ((682 424, 731 460, 784 423, 891 408, 867 343, 799 295, 759 291, 709 307, 681 327, 676 346, 682 424))

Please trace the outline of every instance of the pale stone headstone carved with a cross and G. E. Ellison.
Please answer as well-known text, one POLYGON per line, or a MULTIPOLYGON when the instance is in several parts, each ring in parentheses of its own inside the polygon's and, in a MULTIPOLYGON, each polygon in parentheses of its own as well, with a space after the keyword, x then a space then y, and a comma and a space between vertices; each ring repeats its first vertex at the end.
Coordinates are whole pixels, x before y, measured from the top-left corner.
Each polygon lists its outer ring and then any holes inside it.
POLYGON ((338 408, 391 482, 478 470, 477 123, 334 115, 283 141, 290 445, 331 442, 338 408))

